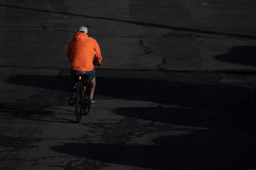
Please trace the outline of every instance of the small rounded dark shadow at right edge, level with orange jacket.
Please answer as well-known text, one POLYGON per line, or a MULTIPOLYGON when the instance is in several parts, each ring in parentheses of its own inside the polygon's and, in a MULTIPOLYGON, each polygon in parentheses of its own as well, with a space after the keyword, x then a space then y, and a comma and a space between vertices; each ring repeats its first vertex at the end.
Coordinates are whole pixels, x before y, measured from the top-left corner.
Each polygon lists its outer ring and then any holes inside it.
POLYGON ((219 61, 248 66, 256 66, 256 46, 238 46, 230 49, 230 53, 217 55, 219 61))

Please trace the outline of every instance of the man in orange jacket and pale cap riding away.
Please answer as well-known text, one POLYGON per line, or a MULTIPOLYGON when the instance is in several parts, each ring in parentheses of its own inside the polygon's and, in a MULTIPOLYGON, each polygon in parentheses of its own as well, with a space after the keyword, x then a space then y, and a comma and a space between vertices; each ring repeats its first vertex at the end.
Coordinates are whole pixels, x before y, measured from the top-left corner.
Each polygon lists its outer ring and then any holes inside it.
MULTIPOLYGON (((68 44, 67 57, 70 62, 70 73, 72 78, 75 74, 84 74, 85 79, 89 82, 90 96, 89 104, 95 106, 96 102, 93 99, 96 80, 93 59, 95 57, 95 64, 101 66, 101 52, 97 41, 88 37, 87 28, 81 26, 77 33, 73 34, 72 40, 68 44)), ((73 82, 74 83, 74 82, 73 82)), ((73 89, 69 99, 69 105, 75 104, 75 91, 73 89)))

